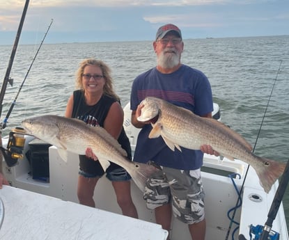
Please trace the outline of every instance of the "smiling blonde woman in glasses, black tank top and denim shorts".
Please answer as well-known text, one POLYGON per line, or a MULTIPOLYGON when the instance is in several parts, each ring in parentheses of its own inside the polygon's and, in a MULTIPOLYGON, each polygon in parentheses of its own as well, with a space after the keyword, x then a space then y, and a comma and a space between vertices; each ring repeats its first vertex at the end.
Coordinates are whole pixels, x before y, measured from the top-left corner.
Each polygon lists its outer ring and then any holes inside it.
MULTIPOLYGON (((78 118, 88 125, 104 127, 132 159, 130 141, 123 129, 123 109, 118 95, 114 93, 110 74, 108 65, 102 61, 93 58, 82 61, 77 70, 78 90, 75 90, 68 99, 65 117, 78 118)), ((86 156, 79 156, 77 196, 80 204, 91 207, 95 207, 93 193, 97 181, 104 175, 100 162, 95 160, 97 156, 91 149, 86 150, 86 156)), ((114 186, 123 215, 138 218, 130 195, 130 175, 115 163, 111 163, 105 173, 114 186)))

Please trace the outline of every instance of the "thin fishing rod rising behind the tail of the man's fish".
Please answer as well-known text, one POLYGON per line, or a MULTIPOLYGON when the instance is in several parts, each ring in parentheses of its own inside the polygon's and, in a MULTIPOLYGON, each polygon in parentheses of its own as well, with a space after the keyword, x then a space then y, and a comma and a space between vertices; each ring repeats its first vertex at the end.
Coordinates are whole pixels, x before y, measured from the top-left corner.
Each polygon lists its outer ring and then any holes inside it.
MULTIPOLYGON (((254 147, 253 147, 252 152, 255 151, 255 148, 256 148, 256 145, 257 145, 257 142, 258 142, 258 139, 259 139, 259 136, 260 136, 260 132, 261 132, 261 129, 262 129, 262 127, 263 127, 263 122, 264 122, 264 120, 265 120, 265 116, 266 116, 266 113, 267 113, 267 109, 268 109, 268 106, 269 106, 269 104, 270 104, 270 100, 271 100, 271 97, 272 97, 272 94, 273 94, 274 86, 275 86, 275 84, 276 84, 276 81, 277 81, 277 78, 278 78, 278 75, 279 75, 279 72, 280 72, 280 69, 281 69, 281 65, 282 65, 282 60, 280 61, 279 69, 278 69, 278 71, 277 71, 277 73, 276 73, 276 77, 275 77, 275 79, 274 79, 274 83, 273 83, 273 86, 272 86, 272 90, 271 90, 270 96, 269 96, 268 101, 267 101, 267 106, 266 106, 266 108, 265 108, 264 115, 263 115, 262 121, 261 121, 261 123, 260 123, 260 127, 259 127, 259 130, 258 130, 258 134, 257 134, 256 141, 255 141, 255 144, 254 144, 254 147)), ((239 196, 241 195, 241 193, 242 193, 242 191, 243 191, 243 189, 244 189, 244 183, 245 183, 245 181, 246 181, 246 178, 247 178, 247 175, 248 175, 248 172, 249 172, 249 167, 250 167, 250 165, 248 165, 248 167, 247 167, 246 173, 245 173, 245 175, 244 175, 244 180, 243 180, 243 182, 242 182, 242 186, 241 186, 241 188, 240 188, 240 191, 238 192, 238 195, 239 195, 239 196)), ((237 211, 237 205, 239 205, 240 200, 242 200, 242 198, 241 198, 241 199, 240 199, 240 197, 237 198, 237 202, 236 202, 236 205, 235 205, 235 207, 234 207, 233 215, 232 215, 232 218, 231 218, 231 221, 230 221, 230 225, 229 225, 228 230, 227 230, 227 234, 226 234, 226 239, 225 239, 225 240, 228 240, 229 234, 230 234, 230 232, 231 232, 232 225, 233 225, 233 223, 235 222, 235 221, 234 221, 234 218, 235 218, 235 214, 236 214, 236 211, 237 211)), ((234 239, 234 238, 233 238, 233 234, 232 234, 232 239, 234 239)))

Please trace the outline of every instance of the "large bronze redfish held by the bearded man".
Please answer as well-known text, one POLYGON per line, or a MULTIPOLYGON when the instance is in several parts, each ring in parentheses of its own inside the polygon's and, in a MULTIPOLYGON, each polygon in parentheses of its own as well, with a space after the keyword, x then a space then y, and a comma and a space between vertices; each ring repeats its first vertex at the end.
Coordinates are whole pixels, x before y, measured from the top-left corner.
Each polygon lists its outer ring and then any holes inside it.
POLYGON ((212 118, 201 118, 187 109, 175 106, 156 97, 146 97, 141 104, 138 120, 146 122, 157 118, 149 138, 162 136, 171 150, 181 147, 199 150, 201 145, 210 145, 228 159, 240 159, 255 170, 260 184, 268 193, 272 184, 285 169, 286 163, 265 159, 253 154, 251 145, 240 134, 212 118))

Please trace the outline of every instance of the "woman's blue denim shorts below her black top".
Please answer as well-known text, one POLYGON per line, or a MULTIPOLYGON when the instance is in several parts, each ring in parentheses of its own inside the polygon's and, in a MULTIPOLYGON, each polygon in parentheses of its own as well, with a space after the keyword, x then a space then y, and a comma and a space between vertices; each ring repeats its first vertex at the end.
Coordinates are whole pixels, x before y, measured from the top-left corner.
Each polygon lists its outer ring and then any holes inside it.
MULTIPOLYGON (((87 177, 87 178, 94 178, 94 177, 102 177, 104 174, 100 175, 100 174, 91 174, 91 173, 86 173, 84 172, 84 170, 79 170, 79 175, 83 176, 83 177, 87 177)), ((113 182, 123 182, 123 181, 129 181, 130 179, 132 179, 132 177, 130 177, 130 175, 127 173, 127 171, 124 168, 116 168, 114 170, 111 171, 107 171, 106 173, 106 177, 107 179, 109 179, 110 181, 113 182)))

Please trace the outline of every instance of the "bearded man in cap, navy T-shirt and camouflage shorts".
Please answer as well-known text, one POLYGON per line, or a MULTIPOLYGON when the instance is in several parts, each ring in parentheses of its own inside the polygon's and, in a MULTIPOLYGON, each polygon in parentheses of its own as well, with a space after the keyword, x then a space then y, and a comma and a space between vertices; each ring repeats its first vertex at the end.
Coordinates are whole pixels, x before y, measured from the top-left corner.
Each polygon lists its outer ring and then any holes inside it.
MULTIPOLYGON (((139 122, 141 101, 148 96, 159 97, 189 109, 204 118, 212 118, 212 91, 203 72, 180 63, 184 42, 178 26, 161 26, 153 42, 157 66, 140 74, 132 85, 130 105, 132 125, 142 128, 136 143, 134 161, 153 161, 162 167, 162 174, 148 179, 144 199, 155 209, 156 222, 165 230, 171 228, 171 212, 189 226, 192 239, 205 239, 205 214, 201 166, 203 152, 216 154, 204 145, 200 150, 171 151, 162 138, 149 139, 151 125, 139 122)), ((169 239, 169 237, 168 237, 169 239)))

